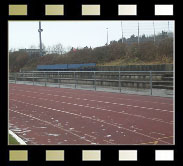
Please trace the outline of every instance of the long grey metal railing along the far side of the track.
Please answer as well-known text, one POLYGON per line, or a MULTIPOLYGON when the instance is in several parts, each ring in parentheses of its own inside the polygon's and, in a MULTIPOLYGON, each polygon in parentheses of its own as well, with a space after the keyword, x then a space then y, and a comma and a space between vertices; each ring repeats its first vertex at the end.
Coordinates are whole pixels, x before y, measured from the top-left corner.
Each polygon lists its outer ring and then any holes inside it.
POLYGON ((56 84, 92 86, 94 90, 98 87, 114 87, 122 91, 122 88, 149 89, 153 94, 154 89, 171 89, 174 87, 174 72, 172 71, 29 71, 10 73, 9 80, 29 81, 32 85, 44 83, 44 86, 56 84))

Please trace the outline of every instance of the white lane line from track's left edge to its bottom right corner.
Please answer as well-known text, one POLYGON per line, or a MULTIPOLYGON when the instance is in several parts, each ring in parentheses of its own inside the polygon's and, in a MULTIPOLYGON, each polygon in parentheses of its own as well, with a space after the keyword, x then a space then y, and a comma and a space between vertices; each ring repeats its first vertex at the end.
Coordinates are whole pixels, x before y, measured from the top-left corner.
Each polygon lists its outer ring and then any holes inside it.
MULTIPOLYGON (((19 103, 22 103, 22 104, 27 104, 27 105, 35 106, 35 107, 41 107, 41 108, 44 108, 44 109, 47 109, 47 108, 48 108, 48 107, 44 107, 44 106, 40 106, 40 105, 35 105, 35 104, 23 102, 23 101, 18 101, 18 100, 14 100, 14 99, 10 99, 10 100, 13 100, 13 101, 15 101, 15 102, 19 102, 19 103)), ((149 135, 146 135, 146 134, 143 134, 143 133, 134 131, 134 130, 127 129, 127 128, 125 128, 125 127, 118 126, 118 125, 116 125, 116 124, 112 124, 112 123, 106 122, 106 121, 101 120, 101 119, 99 119, 99 118, 94 119, 94 118, 91 118, 91 117, 89 117, 89 116, 83 116, 83 115, 79 115, 79 114, 76 114, 76 113, 71 113, 71 112, 68 112, 68 111, 62 111, 62 110, 58 110, 58 109, 57 109, 56 111, 62 112, 62 113, 65 113, 65 114, 69 114, 69 115, 84 117, 84 118, 86 118, 86 119, 90 119, 90 120, 93 120, 93 121, 97 121, 97 122, 100 122, 100 123, 104 123, 104 124, 107 124, 107 125, 110 125, 110 126, 114 126, 114 127, 117 127, 117 128, 120 127, 120 128, 123 129, 123 130, 129 131, 129 132, 132 132, 132 133, 135 133, 135 134, 138 134, 138 135, 141 135, 141 136, 144 136, 144 137, 147 137, 147 138, 156 140, 156 141, 161 141, 161 142, 166 143, 166 144, 170 144, 169 142, 162 141, 162 140, 158 140, 158 139, 155 138, 155 137, 151 137, 151 136, 149 136, 149 135)))

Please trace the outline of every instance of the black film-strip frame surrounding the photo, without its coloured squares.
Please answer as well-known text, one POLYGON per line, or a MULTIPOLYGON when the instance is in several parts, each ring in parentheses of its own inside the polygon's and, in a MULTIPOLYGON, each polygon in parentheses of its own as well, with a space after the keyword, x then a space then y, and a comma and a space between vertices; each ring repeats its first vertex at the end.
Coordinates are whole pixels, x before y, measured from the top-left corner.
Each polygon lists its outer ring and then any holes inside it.
MULTIPOLYGON (((176 32, 176 11, 175 11, 175 1, 174 0, 125 0, 125 1, 111 1, 111 3, 103 0, 42 0, 39 1, 27 1, 27 0, 8 0, 2 8, 5 10, 1 11, 1 113, 0 113, 0 124, 2 128, 2 136, 0 137, 0 142, 2 148, 0 149, 0 163, 6 163, 6 165, 93 165, 93 162, 82 161, 82 150, 101 150, 101 161, 97 161, 95 165, 143 165, 152 164, 154 166, 158 165, 178 165, 178 162, 182 162, 183 150, 182 150, 182 140, 183 140, 183 125, 182 118, 183 113, 181 109, 175 111, 175 145, 8 145, 8 21, 11 20, 175 20, 175 32, 176 32), (45 16, 44 5, 54 3, 54 4, 64 4, 64 16, 45 16), (118 4, 137 4, 137 16, 118 16, 117 6, 118 4), (9 16, 8 15, 8 5, 9 4, 27 4, 28 13, 27 16, 9 16), (100 16, 81 16, 82 4, 100 4, 101 5, 101 15, 100 16), (155 4, 173 4, 174 14, 173 16, 155 16, 154 15, 154 5, 155 4), (110 9, 110 10, 109 10, 110 9), (110 12, 109 12, 110 11, 110 12), (3 92, 3 93, 2 93, 3 92), (5 104, 6 103, 6 104, 5 104), (9 151, 11 150, 28 150, 28 161, 15 162, 9 160, 9 151), (45 150, 64 150, 65 160, 63 162, 46 162, 45 161, 45 150), (137 150, 138 160, 133 162, 119 161, 118 151, 119 150, 137 150), (155 151, 156 150, 173 150, 174 160, 173 161, 155 161, 155 151), (37 158, 39 156, 39 159, 37 158), (110 157, 109 157, 110 156, 110 157)), ((177 39, 176 39, 177 40, 177 39)), ((174 52, 175 52, 175 41, 174 41, 174 52)), ((177 49, 176 49, 177 50, 177 49)), ((175 61, 175 59, 174 59, 175 61)), ((175 66, 174 66, 175 72, 175 66)), ((175 76, 175 73, 174 73, 175 76)), ((174 80, 175 81, 175 80, 174 80)), ((174 82, 175 85, 175 82, 174 82)), ((174 89, 175 90, 175 89, 174 89)), ((174 91, 175 92, 175 91, 174 91)), ((174 109, 175 109, 175 97, 174 97, 174 109)), ((180 163, 179 163, 180 164, 180 163)))

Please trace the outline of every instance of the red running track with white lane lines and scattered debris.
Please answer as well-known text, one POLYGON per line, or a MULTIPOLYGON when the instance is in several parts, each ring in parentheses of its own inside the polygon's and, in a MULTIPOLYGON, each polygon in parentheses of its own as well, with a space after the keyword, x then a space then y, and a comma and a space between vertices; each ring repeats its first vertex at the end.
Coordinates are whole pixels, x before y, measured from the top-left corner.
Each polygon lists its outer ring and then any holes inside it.
POLYGON ((9 128, 27 144, 173 144, 173 99, 9 85, 9 128))

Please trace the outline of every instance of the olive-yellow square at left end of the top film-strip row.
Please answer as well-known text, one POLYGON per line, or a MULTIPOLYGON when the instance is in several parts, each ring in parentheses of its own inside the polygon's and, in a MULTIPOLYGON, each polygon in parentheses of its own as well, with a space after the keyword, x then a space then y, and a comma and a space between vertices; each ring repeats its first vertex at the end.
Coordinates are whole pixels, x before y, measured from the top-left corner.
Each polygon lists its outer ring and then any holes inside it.
POLYGON ((9 5, 9 15, 10 16, 26 16, 27 15, 27 5, 9 5))

